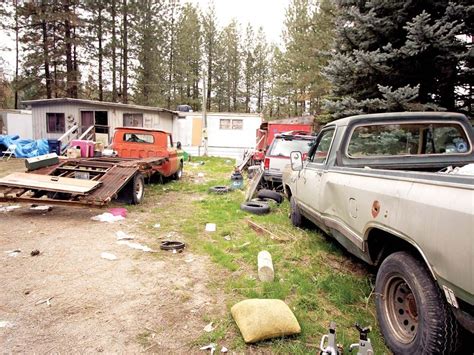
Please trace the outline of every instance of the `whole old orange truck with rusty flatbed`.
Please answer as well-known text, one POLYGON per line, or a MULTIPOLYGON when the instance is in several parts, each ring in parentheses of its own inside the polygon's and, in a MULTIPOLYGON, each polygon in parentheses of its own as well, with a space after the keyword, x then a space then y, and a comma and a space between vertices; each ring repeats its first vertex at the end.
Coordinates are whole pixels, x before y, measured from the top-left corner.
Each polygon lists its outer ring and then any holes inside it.
POLYGON ((180 179, 183 159, 169 133, 117 128, 117 157, 64 159, 58 164, 0 179, 0 201, 105 206, 113 199, 142 202, 145 178, 180 179))

